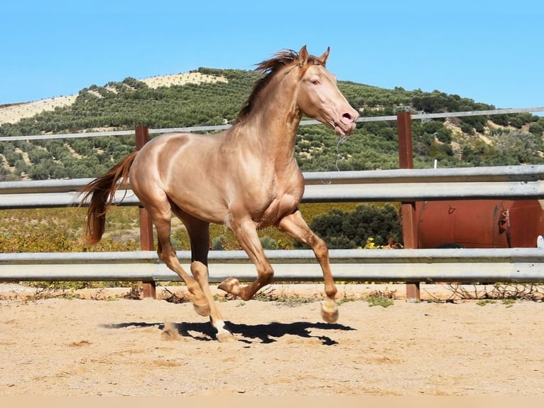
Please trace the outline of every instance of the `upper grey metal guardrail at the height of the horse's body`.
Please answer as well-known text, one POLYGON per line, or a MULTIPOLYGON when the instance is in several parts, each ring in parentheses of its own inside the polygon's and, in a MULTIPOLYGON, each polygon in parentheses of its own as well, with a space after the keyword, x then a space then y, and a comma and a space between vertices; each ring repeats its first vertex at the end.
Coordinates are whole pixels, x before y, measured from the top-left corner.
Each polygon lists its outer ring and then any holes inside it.
MULTIPOLYGON (((445 199, 544 198, 544 166, 425 168, 303 173, 303 202, 372 202, 445 199)), ((92 178, 0 182, 0 208, 55 208, 79 205, 77 192, 92 178)), ((138 205, 130 189, 115 203, 138 205)))

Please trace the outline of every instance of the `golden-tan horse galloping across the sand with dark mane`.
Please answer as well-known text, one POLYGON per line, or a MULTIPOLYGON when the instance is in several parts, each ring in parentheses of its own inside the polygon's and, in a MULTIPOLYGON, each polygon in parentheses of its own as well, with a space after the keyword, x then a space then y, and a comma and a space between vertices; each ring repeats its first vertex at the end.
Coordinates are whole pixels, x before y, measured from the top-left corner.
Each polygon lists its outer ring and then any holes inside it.
POLYGON ((271 282, 273 269, 257 230, 273 225, 312 248, 325 280, 322 318, 337 321, 329 250, 298 210, 304 179, 295 160, 295 136, 303 114, 340 136, 349 136, 359 117, 338 90, 336 77, 325 68, 328 56, 329 48, 316 57, 308 54, 306 46, 298 53, 276 53, 257 65, 256 70, 266 75, 254 85, 232 127, 214 135, 162 134, 82 188, 82 203, 89 202, 87 241, 94 244, 104 233, 106 212, 119 181, 128 179, 155 224, 159 259, 185 281, 195 311, 210 316, 219 341, 234 335, 225 326, 208 284, 210 222, 229 227, 257 269, 251 284, 241 286, 231 277, 220 289, 248 300, 271 282), (172 213, 190 237, 192 277, 181 267, 170 242, 172 213))

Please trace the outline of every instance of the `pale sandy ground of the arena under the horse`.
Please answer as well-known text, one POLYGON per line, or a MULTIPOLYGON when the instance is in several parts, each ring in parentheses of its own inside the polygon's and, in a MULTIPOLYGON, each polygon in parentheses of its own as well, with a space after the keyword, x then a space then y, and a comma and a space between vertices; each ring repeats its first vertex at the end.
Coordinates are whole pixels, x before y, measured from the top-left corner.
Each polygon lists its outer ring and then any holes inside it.
POLYGON ((238 340, 219 343, 191 304, 3 285, 0 396, 544 395, 542 302, 370 307, 370 288, 344 288, 335 324, 317 301, 219 301, 238 340))

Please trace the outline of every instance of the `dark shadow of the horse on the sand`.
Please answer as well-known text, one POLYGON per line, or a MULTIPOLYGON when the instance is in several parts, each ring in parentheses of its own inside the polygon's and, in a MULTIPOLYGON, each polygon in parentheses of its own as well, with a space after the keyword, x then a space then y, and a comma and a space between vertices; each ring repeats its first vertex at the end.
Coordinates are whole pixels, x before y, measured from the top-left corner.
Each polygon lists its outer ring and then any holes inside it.
MULTIPOLYGON (((226 322, 227 328, 236 338, 244 343, 253 343, 253 340, 259 340, 260 343, 274 343, 277 338, 284 335, 295 335, 300 338, 317 338, 322 345, 338 344, 336 340, 327 335, 312 335, 312 329, 332 330, 332 331, 352 331, 355 328, 344 326, 338 323, 310 323, 310 322, 294 322, 294 323, 266 323, 266 324, 239 324, 226 322), (251 340, 252 339, 252 340, 251 340)), ((103 324, 104 328, 129 328, 129 327, 156 327, 159 330, 165 331, 165 323, 145 323, 145 322, 127 322, 127 323, 112 323, 103 324)), ((195 340, 209 341, 215 339, 215 329, 211 323, 168 323, 168 330, 175 330, 179 335, 195 340)))

